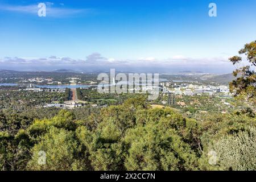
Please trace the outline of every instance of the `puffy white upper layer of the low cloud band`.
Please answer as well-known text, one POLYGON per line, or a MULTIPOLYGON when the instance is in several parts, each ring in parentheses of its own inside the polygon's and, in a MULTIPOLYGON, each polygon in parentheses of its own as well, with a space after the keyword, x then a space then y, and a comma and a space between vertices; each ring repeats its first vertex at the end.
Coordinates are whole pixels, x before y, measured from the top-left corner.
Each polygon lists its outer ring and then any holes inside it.
POLYGON ((116 60, 102 56, 100 53, 92 53, 85 60, 72 59, 70 57, 5 57, 0 59, 0 63, 6 64, 126 64, 126 65, 221 65, 229 64, 228 57, 212 57, 212 58, 190 58, 184 56, 173 56, 169 59, 156 59, 155 57, 140 58, 137 60, 116 60))

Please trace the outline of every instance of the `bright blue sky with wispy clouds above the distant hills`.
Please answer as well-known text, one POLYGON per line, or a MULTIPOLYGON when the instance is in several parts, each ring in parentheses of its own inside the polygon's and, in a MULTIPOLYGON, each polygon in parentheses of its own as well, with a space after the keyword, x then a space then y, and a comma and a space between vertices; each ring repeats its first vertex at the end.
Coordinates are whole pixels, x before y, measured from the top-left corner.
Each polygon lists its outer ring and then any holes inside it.
POLYGON ((46 17, 37 14, 40 2, 0 0, 0 67, 191 64, 230 72, 227 58, 256 39, 255 0, 60 0, 44 2, 46 17), (208 15, 210 2, 217 17, 208 15))

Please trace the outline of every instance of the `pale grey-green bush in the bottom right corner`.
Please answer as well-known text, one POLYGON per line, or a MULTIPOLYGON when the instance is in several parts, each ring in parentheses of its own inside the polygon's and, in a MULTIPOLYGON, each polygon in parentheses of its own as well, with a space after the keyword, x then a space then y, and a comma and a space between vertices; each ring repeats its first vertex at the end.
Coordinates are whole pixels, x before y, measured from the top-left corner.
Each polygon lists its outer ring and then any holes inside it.
POLYGON ((248 171, 256 168, 256 130, 240 131, 225 135, 214 141, 208 148, 217 154, 216 166, 205 163, 209 158, 202 157, 203 169, 248 171), (204 162, 203 162, 204 161, 204 162))

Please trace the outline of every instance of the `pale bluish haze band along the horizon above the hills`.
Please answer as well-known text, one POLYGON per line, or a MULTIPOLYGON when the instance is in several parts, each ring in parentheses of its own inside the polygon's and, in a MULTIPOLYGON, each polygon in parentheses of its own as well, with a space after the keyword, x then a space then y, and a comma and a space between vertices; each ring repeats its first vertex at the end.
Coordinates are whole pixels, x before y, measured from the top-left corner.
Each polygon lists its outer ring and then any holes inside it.
MULTIPOLYGON (((96 54, 97 55, 97 54, 96 54)), ((68 57, 47 58, 47 59, 21 59, 21 58, 5 58, 0 63, 0 69, 13 71, 56 71, 58 69, 68 69, 76 72, 108 72, 110 69, 115 69, 118 72, 158 72, 158 73, 179 73, 184 71, 203 72, 225 74, 232 73, 234 67, 229 61, 222 63, 209 64, 208 61, 193 61, 180 60, 180 63, 168 63, 168 60, 162 61, 109 61, 103 57, 97 60, 100 55, 88 56, 94 60, 72 60, 68 57), (44 63, 42 63, 42 61, 44 63), (71 63, 72 62, 72 63, 71 63), (89 63, 88 63, 89 62, 89 63), (220 69, 221 68, 221 69, 220 69)))

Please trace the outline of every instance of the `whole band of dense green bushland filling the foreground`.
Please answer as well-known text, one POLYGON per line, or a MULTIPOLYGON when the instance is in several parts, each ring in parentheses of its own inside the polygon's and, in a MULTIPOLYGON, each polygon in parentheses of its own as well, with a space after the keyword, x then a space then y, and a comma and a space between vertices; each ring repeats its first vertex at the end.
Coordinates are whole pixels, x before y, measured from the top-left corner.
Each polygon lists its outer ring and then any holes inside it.
POLYGON ((2 170, 255 170, 253 110, 185 118, 143 96, 52 117, 0 113, 2 170), (217 152, 210 165, 208 152, 217 152), (40 163, 42 151, 46 163, 40 163))

